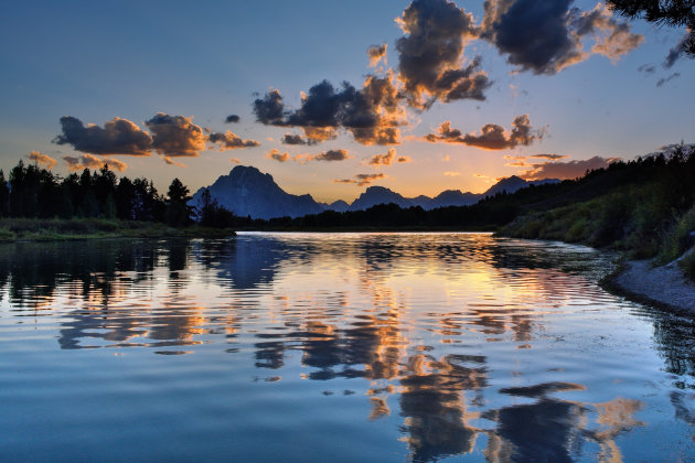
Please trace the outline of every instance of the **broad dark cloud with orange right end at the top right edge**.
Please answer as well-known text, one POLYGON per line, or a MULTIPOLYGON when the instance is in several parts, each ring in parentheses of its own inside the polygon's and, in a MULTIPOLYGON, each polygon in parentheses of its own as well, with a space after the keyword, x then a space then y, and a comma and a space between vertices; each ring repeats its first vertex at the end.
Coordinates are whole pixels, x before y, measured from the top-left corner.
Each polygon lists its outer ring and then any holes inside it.
POLYGON ((602 54, 620 58, 644 42, 627 22, 617 21, 602 3, 591 11, 570 8, 574 0, 488 0, 481 37, 506 55, 520 71, 553 75, 602 54), (590 52, 584 41, 594 40, 590 52))

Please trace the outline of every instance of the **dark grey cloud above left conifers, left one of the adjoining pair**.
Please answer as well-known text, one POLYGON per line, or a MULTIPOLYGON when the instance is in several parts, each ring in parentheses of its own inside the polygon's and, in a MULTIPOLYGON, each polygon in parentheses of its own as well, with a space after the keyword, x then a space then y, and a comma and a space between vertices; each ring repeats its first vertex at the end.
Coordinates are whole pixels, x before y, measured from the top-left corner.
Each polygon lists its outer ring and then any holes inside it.
POLYGON ((128 119, 114 118, 104 127, 88 125, 72 116, 61 118, 63 133, 56 144, 71 144, 76 151, 92 154, 150 155, 152 137, 128 119))

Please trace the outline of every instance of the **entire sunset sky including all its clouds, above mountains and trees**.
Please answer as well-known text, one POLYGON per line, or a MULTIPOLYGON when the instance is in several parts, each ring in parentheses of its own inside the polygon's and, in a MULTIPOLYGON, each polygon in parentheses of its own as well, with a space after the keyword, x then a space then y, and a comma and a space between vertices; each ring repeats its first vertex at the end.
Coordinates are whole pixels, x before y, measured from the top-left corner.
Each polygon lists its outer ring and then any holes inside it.
POLYGON ((575 177, 695 142, 684 33, 584 0, 3 2, 0 168, 253 165, 323 202, 575 177))

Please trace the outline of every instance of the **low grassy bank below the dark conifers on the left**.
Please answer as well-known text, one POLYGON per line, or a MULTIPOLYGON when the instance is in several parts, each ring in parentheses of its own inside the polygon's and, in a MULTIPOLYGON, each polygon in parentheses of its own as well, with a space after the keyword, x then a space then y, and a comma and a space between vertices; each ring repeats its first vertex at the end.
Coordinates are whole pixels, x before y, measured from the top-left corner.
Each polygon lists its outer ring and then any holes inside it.
POLYGON ((0 241, 50 241, 92 238, 221 238, 231 229, 189 226, 170 227, 156 222, 99 218, 0 218, 0 241))

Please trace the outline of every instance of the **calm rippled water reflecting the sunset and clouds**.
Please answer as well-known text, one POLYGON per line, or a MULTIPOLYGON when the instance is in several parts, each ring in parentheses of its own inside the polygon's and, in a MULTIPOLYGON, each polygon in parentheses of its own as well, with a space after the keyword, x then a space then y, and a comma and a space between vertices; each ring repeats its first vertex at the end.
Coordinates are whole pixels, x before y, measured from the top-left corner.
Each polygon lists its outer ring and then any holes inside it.
POLYGON ((484 234, 0 246, 1 461, 693 461, 695 324, 484 234))

